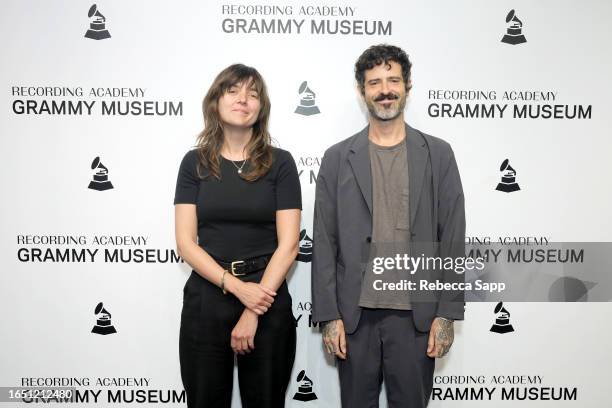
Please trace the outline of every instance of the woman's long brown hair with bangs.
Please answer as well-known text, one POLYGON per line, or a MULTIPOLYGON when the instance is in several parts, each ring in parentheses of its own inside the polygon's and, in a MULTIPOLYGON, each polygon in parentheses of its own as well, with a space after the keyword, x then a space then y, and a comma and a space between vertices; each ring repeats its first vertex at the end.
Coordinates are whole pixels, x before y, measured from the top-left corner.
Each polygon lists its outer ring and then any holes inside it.
POLYGON ((240 174, 244 180, 255 181, 265 175, 272 166, 272 147, 268 133, 270 118, 270 98, 266 84, 255 68, 243 64, 234 64, 217 75, 202 102, 204 130, 198 135, 198 176, 221 179, 219 162, 223 146, 223 124, 219 116, 218 102, 225 92, 239 83, 247 83, 259 95, 260 110, 253 124, 253 136, 246 145, 249 162, 245 171, 240 174), (208 171, 202 176, 203 169, 208 171))

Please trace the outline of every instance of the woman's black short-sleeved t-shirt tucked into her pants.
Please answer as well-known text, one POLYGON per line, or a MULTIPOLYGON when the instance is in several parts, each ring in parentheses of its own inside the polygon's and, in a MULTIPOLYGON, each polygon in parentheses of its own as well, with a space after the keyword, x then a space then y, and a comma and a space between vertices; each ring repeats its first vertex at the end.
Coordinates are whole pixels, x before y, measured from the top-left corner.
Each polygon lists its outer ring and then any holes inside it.
MULTIPOLYGON (((211 256, 237 261, 271 254, 278 246, 276 211, 302 209, 295 161, 273 147, 273 164, 256 181, 240 178, 234 162, 221 157, 221 180, 200 179, 197 149, 187 152, 179 169, 174 204, 195 204, 198 244, 211 256)), ((246 163, 243 170, 248 166, 246 163)), ((206 174, 204 169, 202 174, 206 174)))

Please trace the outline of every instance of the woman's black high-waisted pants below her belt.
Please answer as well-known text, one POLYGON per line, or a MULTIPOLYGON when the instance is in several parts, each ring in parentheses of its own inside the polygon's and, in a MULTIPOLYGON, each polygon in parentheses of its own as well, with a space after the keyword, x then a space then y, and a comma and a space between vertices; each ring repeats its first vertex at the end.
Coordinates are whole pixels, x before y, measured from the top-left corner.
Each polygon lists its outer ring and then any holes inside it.
MULTIPOLYGON (((263 270, 241 276, 259 282, 263 270)), ((259 316, 255 349, 236 355, 240 398, 244 408, 284 407, 295 359, 295 320, 287 283, 276 291, 272 307, 259 316)), ((231 332, 244 305, 196 272, 185 284, 179 356, 189 408, 229 408, 234 352, 231 332)))

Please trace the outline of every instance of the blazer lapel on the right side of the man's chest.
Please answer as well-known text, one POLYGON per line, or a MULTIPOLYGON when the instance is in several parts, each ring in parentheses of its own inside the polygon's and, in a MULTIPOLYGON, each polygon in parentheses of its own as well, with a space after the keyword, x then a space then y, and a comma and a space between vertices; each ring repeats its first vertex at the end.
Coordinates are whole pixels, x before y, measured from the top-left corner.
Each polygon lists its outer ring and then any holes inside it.
POLYGON ((412 226, 416 220, 419 198, 423 189, 429 150, 419 131, 408 126, 408 124, 406 124, 406 147, 408 153, 408 181, 410 183, 410 225, 412 226))

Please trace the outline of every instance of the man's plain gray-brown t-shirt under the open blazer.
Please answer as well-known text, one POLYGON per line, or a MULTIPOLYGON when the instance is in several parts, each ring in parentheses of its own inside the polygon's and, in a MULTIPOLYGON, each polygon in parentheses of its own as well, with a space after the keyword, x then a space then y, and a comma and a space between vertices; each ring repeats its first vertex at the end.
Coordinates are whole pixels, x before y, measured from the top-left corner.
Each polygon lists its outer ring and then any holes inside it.
MULTIPOLYGON (((410 310, 407 290, 376 290, 374 281, 400 283, 409 279, 406 270, 373 272, 372 259, 409 254, 410 211, 408 192, 408 156, 406 139, 395 146, 369 143, 372 171, 372 244, 362 285, 359 306, 379 309, 410 310)), ((380 283, 377 285, 380 287, 380 283)))

